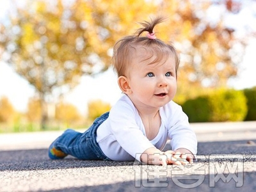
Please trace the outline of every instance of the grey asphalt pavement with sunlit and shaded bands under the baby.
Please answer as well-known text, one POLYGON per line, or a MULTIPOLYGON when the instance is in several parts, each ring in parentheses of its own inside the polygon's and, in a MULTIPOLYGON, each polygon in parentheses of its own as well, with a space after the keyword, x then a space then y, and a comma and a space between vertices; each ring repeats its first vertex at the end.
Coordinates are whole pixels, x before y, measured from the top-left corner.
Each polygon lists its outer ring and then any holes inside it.
POLYGON ((53 161, 47 147, 62 131, 0 134, 0 191, 256 191, 256 122, 191 127, 198 159, 188 166, 53 161))

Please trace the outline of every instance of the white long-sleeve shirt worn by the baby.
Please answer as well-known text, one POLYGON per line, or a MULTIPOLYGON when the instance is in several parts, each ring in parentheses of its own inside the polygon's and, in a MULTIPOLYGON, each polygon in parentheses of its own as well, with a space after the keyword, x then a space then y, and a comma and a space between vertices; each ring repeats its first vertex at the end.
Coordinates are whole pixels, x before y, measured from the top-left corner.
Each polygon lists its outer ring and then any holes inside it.
POLYGON ((123 95, 109 111, 109 117, 97 129, 97 143, 113 161, 140 161, 140 154, 148 148, 163 150, 171 140, 172 150, 186 148, 197 152, 195 132, 182 108, 171 101, 159 109, 161 126, 153 140, 148 140, 145 127, 132 101, 123 95), (138 154, 136 156, 136 154, 138 154))

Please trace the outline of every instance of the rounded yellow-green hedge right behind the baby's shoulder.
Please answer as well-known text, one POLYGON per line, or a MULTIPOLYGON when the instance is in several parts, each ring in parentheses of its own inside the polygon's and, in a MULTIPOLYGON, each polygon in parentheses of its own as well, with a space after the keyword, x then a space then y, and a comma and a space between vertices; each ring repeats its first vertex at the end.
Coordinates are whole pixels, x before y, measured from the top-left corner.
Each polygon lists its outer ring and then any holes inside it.
POLYGON ((216 90, 187 100, 182 108, 189 122, 242 121, 247 114, 246 97, 236 90, 216 90))

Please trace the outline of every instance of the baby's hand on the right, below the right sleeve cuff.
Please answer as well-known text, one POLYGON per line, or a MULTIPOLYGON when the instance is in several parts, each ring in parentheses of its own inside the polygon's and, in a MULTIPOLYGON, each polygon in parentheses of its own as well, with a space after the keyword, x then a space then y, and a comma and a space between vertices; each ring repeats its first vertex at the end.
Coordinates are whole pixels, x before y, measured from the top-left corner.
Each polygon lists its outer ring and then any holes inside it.
POLYGON ((189 163, 186 154, 182 154, 179 151, 167 150, 164 154, 167 156, 168 164, 180 165, 189 163))

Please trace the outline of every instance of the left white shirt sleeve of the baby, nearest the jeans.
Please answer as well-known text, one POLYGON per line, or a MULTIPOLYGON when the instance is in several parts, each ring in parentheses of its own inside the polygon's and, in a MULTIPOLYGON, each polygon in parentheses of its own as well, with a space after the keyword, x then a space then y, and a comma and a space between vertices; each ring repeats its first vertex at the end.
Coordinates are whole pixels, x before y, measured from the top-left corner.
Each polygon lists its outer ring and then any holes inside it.
MULTIPOLYGON (((130 101, 131 102, 131 101, 130 101)), ((138 125, 138 111, 132 102, 120 102, 109 113, 111 131, 124 150, 140 161, 140 156, 148 148, 154 147, 138 125), (136 155, 137 154, 137 155, 136 155)), ((156 148, 156 147, 155 147, 156 148)))

